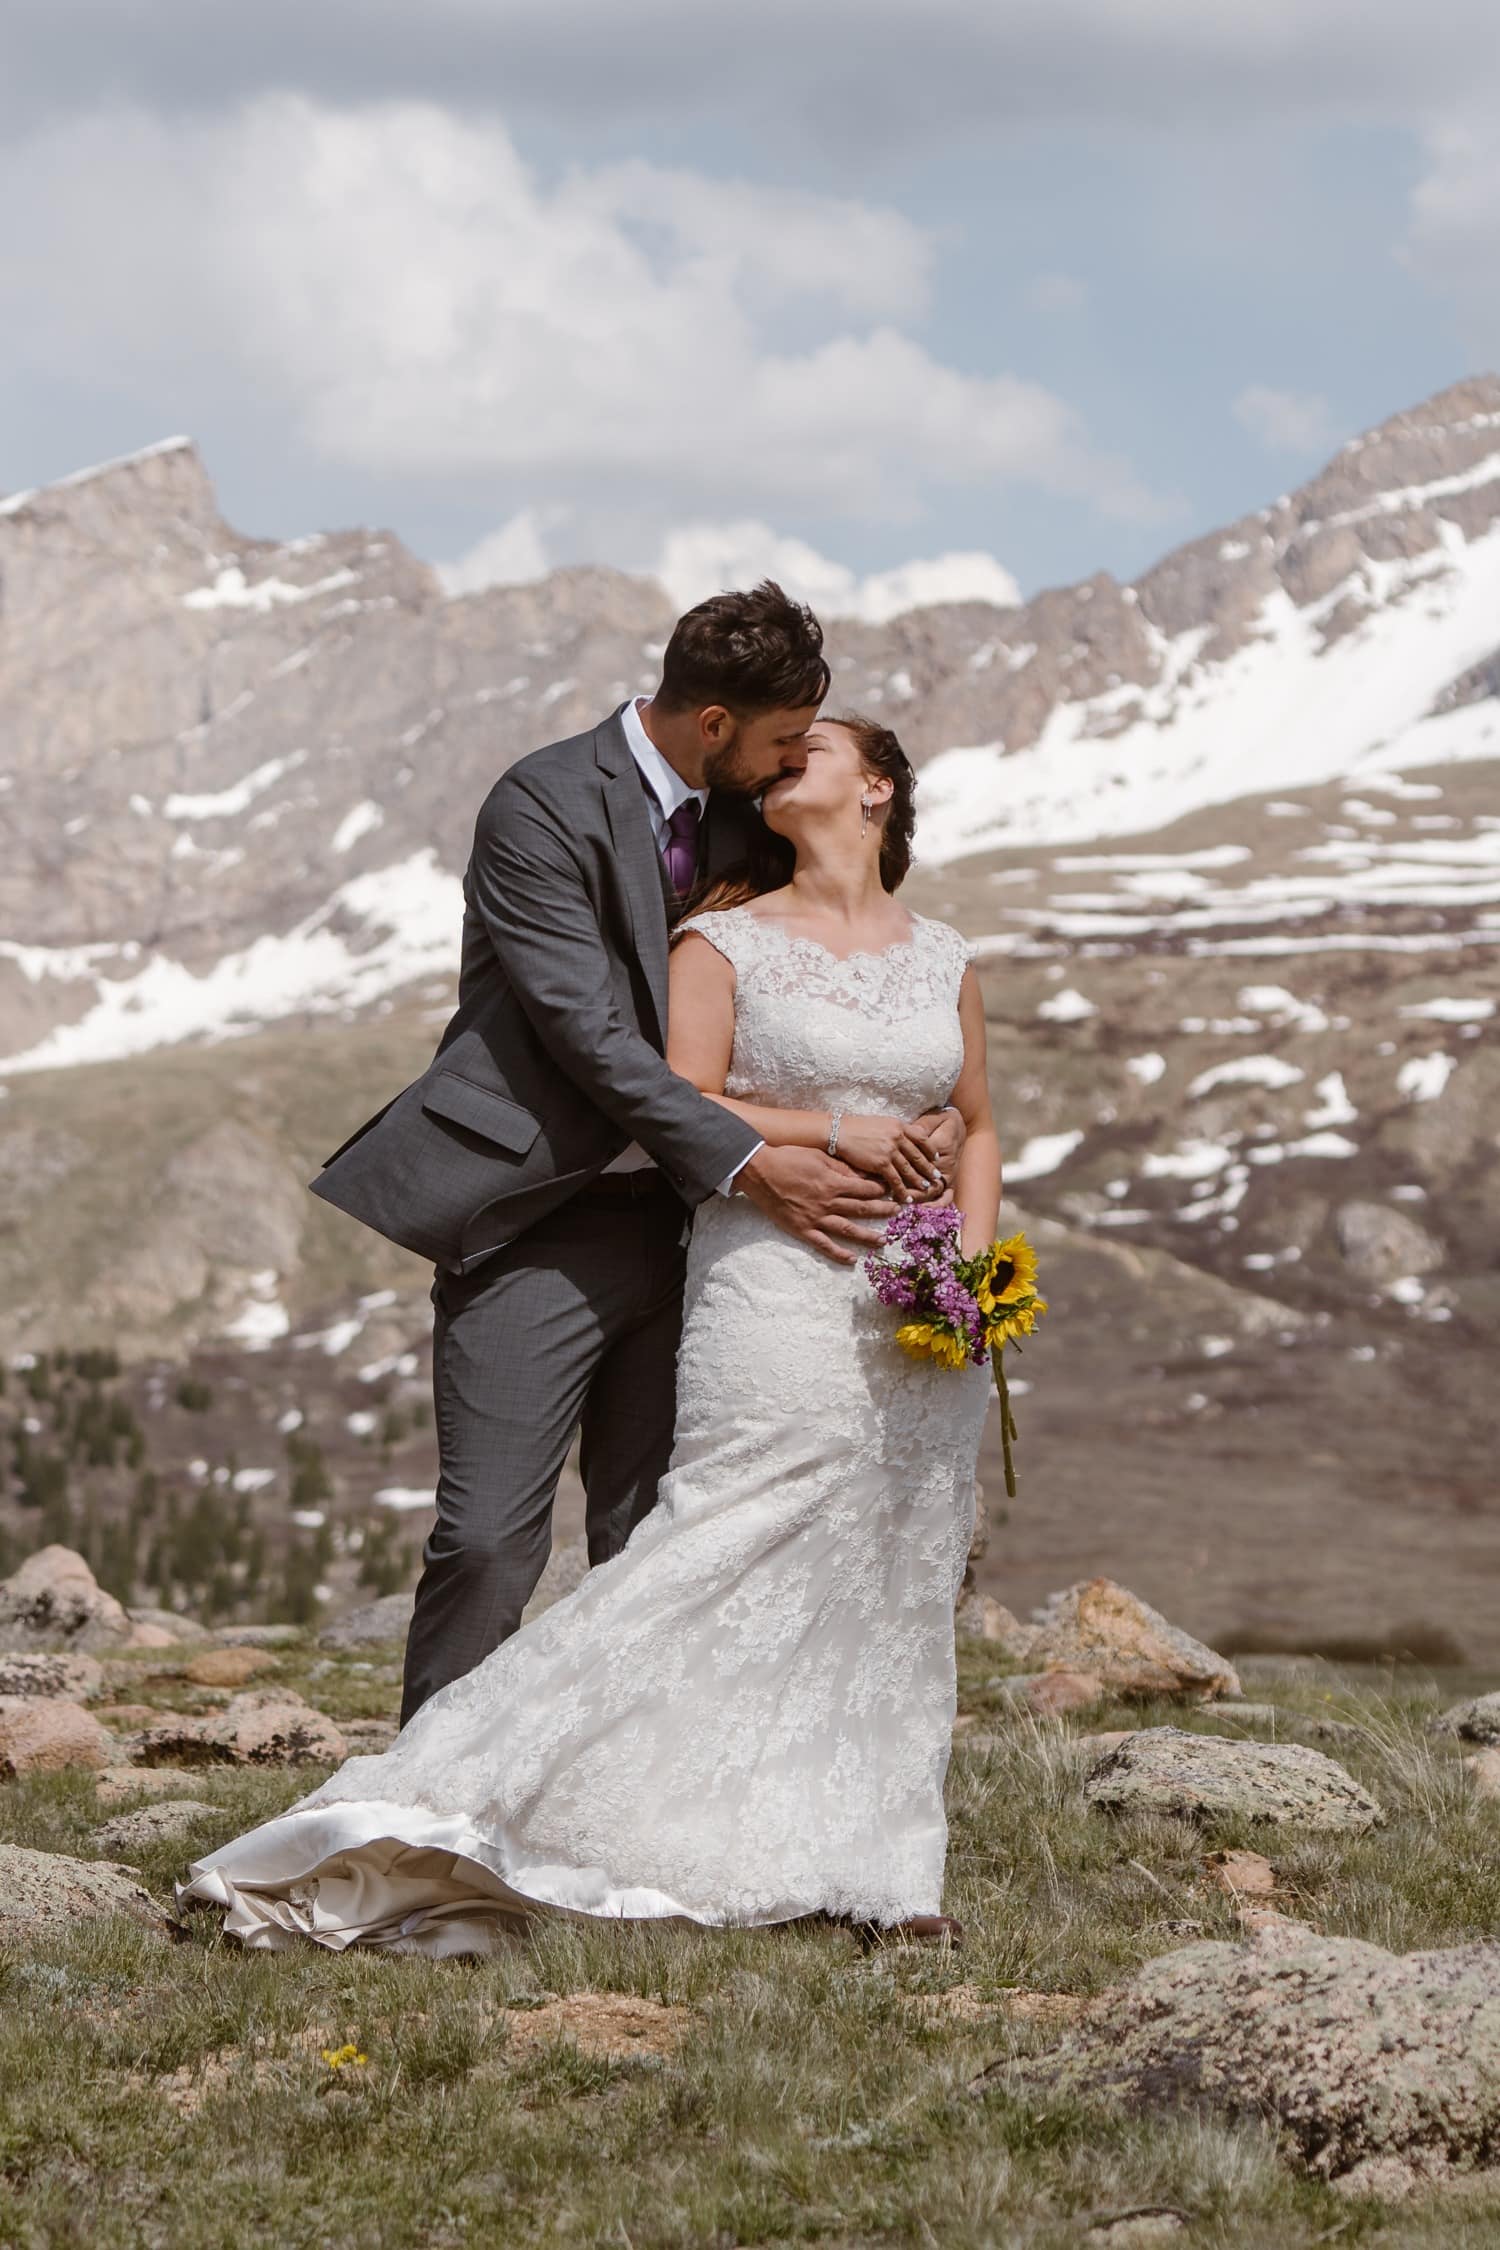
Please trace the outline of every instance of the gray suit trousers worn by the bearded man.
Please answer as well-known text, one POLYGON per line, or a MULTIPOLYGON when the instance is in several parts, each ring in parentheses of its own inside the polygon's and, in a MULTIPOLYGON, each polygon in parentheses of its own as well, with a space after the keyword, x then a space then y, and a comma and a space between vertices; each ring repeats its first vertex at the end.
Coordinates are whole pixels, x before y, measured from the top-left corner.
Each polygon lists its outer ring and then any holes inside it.
POLYGON ((400 1724, 522 1622, 582 1431, 589 1564, 657 1498, 672 1451, 688 1213, 659 1172, 571 1197, 468 1274, 432 1282, 436 1523, 407 1636, 400 1724))

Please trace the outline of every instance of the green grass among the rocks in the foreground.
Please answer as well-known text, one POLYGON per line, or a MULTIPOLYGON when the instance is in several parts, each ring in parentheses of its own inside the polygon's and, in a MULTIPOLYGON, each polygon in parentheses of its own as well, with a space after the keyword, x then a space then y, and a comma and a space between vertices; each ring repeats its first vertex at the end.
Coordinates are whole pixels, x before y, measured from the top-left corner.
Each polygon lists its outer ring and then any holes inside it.
MULTIPOLYGON (((277 1676, 337 1717, 389 1710, 387 1652, 371 1670, 335 1658, 313 1676, 319 1663, 290 1652, 277 1676)), ((1329 1672, 1275 1688, 1289 1712, 1361 1728, 1336 1755, 1390 1814, 1363 1838, 1313 1838, 1088 1811, 1066 1735, 999 1717, 994 1676, 994 1656, 965 1647, 965 1708, 990 1712, 999 1739, 954 1760, 958 1955, 864 1955, 823 1926, 540 1924, 488 1962, 265 1958, 223 1944, 209 1912, 189 1915, 178 1944, 130 1924, 11 1944, 0 2243, 1061 2250, 1100 2214, 1169 2205, 1194 2250, 1489 2250, 1500 2192, 1349 2203, 1298 2178, 1255 2124, 1023 2102, 1003 2081, 969 2090, 985 2066, 1057 2036, 1007 2016, 1005 1987, 1088 1994, 1192 1935, 1235 1937, 1232 1904, 1203 1872, 1214 1845, 1264 1850, 1325 1930, 1399 1948, 1500 1930, 1500 1814, 1424 1732, 1435 1685, 1329 1672), (956 1984, 976 1989, 976 2018, 920 2005, 956 1984), (681 2009, 681 2043, 609 2061, 522 2038, 537 2002, 578 1991, 681 2009), (344 2041, 367 2063, 335 2072, 319 2048, 344 2041)), ((1219 1724, 1109 1708, 1091 1726, 1131 1719, 1219 1724)), ((142 1854, 146 1881, 166 1894, 187 1856, 315 1778, 184 1775, 216 1811, 187 1847, 142 1854)), ((88 1856, 99 1818, 79 1775, 0 1793, 0 1836, 43 1850, 88 1856)))

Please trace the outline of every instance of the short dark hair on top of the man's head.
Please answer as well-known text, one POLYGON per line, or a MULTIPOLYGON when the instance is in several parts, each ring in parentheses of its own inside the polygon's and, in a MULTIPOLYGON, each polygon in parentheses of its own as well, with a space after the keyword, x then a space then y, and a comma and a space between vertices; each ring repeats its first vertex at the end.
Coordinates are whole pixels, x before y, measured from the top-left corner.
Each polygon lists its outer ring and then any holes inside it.
POLYGON ((812 610, 762 578, 749 594, 713 594, 677 619, 657 702, 670 711, 724 704, 735 718, 758 718, 823 702, 830 677, 812 610))

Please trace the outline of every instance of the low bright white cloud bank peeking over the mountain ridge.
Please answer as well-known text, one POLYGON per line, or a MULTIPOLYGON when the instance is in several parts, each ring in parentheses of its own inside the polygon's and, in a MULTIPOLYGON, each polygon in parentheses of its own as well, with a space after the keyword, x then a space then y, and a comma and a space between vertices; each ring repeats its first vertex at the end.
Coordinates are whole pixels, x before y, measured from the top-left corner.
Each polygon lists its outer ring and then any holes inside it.
MULTIPOLYGON (((564 518, 562 508, 524 508, 457 562, 441 562, 443 585, 450 594, 472 594, 486 585, 519 585, 544 576, 567 558, 564 544, 558 540, 549 544, 544 529, 555 529, 564 518)), ((679 610, 690 610, 695 601, 706 601, 724 587, 756 585, 760 578, 776 578, 823 616, 857 616, 870 626, 942 601, 992 601, 999 608, 1021 601, 1012 574, 987 554, 931 556, 861 578, 846 562, 819 554, 807 540, 774 531, 756 518, 679 524, 663 536, 652 560, 632 558, 632 567, 659 578, 679 610)))

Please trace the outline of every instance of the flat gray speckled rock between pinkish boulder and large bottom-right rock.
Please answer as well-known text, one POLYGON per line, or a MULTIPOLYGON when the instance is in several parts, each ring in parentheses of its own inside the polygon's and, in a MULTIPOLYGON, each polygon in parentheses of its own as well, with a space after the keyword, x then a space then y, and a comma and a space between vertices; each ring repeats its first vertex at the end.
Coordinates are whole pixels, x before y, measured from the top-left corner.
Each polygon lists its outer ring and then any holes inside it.
POLYGON ((1232 1742, 1147 1726, 1109 1750, 1084 1780, 1091 1804, 1115 1814, 1214 1814, 1311 1829, 1367 1829, 1383 1820, 1322 1750, 1300 1742, 1232 1742))

